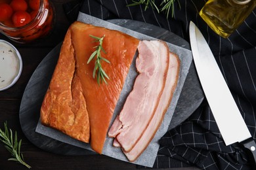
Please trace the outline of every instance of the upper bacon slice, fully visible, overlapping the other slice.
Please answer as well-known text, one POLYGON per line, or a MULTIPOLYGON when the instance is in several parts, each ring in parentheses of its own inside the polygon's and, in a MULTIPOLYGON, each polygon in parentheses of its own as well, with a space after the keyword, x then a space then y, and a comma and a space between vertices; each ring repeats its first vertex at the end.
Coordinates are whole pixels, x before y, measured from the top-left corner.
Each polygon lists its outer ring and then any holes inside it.
POLYGON ((130 152, 153 118, 169 66, 169 48, 163 41, 140 41, 136 67, 139 75, 108 135, 130 152))

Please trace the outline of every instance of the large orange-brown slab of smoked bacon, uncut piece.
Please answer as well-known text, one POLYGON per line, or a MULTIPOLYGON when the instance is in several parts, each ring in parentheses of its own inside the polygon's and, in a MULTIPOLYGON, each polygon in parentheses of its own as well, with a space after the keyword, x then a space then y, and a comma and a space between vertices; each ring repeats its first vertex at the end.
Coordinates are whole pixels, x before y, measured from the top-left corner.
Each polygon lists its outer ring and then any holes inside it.
POLYGON ((62 44, 60 58, 41 107, 41 122, 75 139, 90 142, 91 148, 101 154, 138 44, 138 39, 125 33, 74 22, 62 44), (108 84, 99 85, 93 78, 94 61, 87 64, 98 45, 89 35, 105 35, 102 46, 106 54, 102 52, 102 57, 110 63, 102 62, 102 68, 110 77, 108 84))

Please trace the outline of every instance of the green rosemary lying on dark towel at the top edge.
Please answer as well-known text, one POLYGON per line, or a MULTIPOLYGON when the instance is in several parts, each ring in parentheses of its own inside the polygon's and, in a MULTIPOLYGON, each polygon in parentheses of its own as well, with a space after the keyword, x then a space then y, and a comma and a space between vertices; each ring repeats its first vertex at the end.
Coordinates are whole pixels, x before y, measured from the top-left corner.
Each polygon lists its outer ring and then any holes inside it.
MULTIPOLYGON (((158 0, 159 1, 159 0, 158 0)), ((152 7, 152 9, 156 9, 158 13, 164 12, 166 15, 166 18, 168 19, 169 17, 169 12, 171 10, 171 16, 174 16, 174 3, 176 0, 162 0, 160 3, 160 6, 156 5, 155 0, 138 0, 138 1, 133 1, 133 3, 127 5, 127 7, 132 7, 135 5, 144 5, 145 8, 144 10, 147 10, 149 6, 152 7)), ((179 3, 179 1, 178 1, 179 3)), ((181 5, 179 3, 179 7, 181 8, 181 5)))

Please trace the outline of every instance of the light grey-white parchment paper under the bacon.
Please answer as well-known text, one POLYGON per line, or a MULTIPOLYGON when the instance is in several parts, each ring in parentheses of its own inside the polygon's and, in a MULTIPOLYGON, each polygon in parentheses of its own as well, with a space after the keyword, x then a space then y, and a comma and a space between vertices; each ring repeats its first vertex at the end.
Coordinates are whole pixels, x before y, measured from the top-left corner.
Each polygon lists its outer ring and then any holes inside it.
MULTIPOLYGON (((79 13, 77 20, 81 21, 81 22, 85 22, 87 24, 93 24, 96 26, 106 27, 108 29, 115 29, 115 30, 121 31, 123 33, 127 33, 128 35, 131 35, 133 37, 136 37, 137 39, 154 40, 153 37, 149 37, 142 33, 132 31, 131 29, 126 29, 124 27, 120 27, 116 24, 112 24, 110 22, 100 20, 98 18, 89 16, 87 14, 83 14, 81 12, 79 13)), ((181 94, 181 90, 182 90, 184 81, 186 79, 186 75, 188 74, 188 69, 192 62, 192 53, 190 50, 186 50, 185 48, 176 46, 174 44, 170 44, 168 42, 167 42, 167 44, 168 44, 171 52, 175 52, 176 54, 178 54, 178 56, 181 60, 181 69, 180 69, 180 73, 179 73, 179 80, 178 80, 177 88, 175 90, 173 99, 171 101, 169 109, 167 110, 167 112, 165 114, 165 118, 163 119, 163 122, 162 122, 160 128, 158 129, 154 139, 148 145, 146 150, 144 150, 144 152, 140 155, 140 157, 135 162, 133 162, 135 164, 144 165, 146 167, 152 167, 154 165, 154 161, 156 160, 156 156, 157 156, 158 149, 159 149, 158 141, 167 132, 167 129, 171 122, 171 118, 173 116, 173 112, 175 110, 177 101, 179 99, 179 95, 181 94)), ((135 61, 135 59, 133 59, 133 60, 135 61)), ((133 81, 137 76, 137 71, 135 68, 134 61, 129 70, 129 74, 125 80, 125 85, 123 87, 123 90, 121 91, 119 100, 117 101, 117 106, 116 106, 116 109, 114 110, 114 116, 112 117, 112 122, 116 118, 117 114, 119 114, 127 95, 129 94, 129 92, 131 91, 131 88, 133 87, 133 81)), ((112 124, 112 122, 111 122, 111 124, 112 124)), ((110 126, 111 126, 111 124, 110 124, 110 126)), ((60 131, 52 129, 51 127, 43 126, 40 123, 40 121, 38 122, 37 128, 35 129, 35 131, 37 133, 47 135, 48 137, 51 137, 51 138, 61 141, 63 143, 68 143, 68 144, 72 144, 74 146, 78 146, 81 148, 86 148, 88 150, 91 150, 90 144, 82 143, 81 141, 77 141, 75 139, 72 139, 68 135, 65 135, 64 133, 61 133, 60 131)), ((104 149, 103 149, 102 154, 104 154, 106 156, 110 156, 112 158, 116 158, 118 160, 128 161, 127 158, 125 157, 125 155, 123 154, 123 152, 121 151, 121 149, 112 146, 112 143, 113 143, 113 138, 106 136, 106 141, 104 143, 104 149)))

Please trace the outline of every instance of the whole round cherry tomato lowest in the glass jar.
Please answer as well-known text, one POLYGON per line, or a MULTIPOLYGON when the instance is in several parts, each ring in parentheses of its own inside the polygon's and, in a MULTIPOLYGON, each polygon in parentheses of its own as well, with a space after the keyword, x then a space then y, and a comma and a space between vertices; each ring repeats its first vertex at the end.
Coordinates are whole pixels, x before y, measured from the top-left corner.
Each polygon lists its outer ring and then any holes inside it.
POLYGON ((15 27, 22 27, 31 21, 31 16, 26 11, 17 11, 12 15, 12 22, 15 27))

